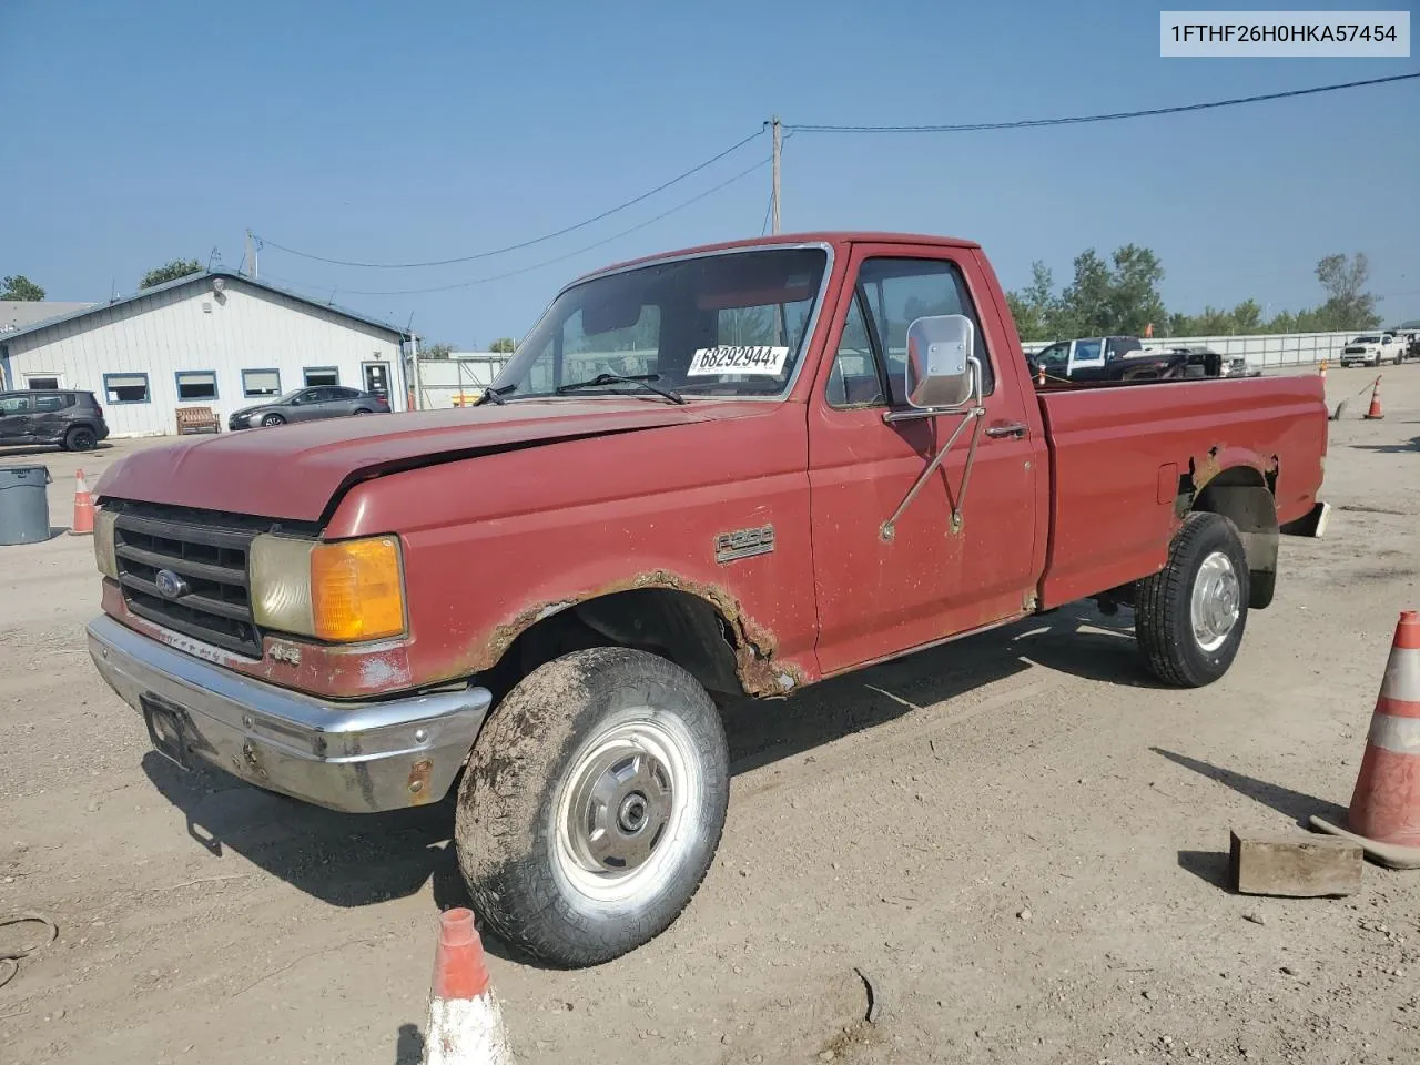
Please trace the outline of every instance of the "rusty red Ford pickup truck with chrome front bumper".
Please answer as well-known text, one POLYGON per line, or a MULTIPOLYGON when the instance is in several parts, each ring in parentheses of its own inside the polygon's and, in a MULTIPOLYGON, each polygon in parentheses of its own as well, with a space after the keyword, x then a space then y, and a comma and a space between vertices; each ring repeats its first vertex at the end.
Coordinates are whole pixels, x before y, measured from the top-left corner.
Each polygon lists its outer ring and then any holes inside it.
POLYGON ((706 875, 727 700, 1091 598, 1217 680, 1322 531, 1326 425, 1316 376, 1038 392, 968 241, 677 251, 564 288, 476 409, 116 463, 89 648, 182 765, 351 812, 457 788, 483 920, 594 964, 706 875))

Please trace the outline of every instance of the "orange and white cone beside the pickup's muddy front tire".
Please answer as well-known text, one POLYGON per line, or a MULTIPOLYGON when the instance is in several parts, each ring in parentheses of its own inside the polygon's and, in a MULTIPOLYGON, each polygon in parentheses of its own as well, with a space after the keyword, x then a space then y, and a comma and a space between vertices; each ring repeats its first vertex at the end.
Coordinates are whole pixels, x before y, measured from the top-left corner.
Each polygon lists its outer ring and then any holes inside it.
POLYGON ((470 909, 439 914, 423 1065, 513 1065, 503 1007, 493 997, 470 909))

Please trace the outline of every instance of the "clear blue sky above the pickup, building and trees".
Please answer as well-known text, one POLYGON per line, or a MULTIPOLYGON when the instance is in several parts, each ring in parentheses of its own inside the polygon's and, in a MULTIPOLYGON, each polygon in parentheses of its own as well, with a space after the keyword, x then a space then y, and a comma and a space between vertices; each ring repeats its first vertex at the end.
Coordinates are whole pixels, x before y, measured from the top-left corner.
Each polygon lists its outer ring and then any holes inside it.
MULTIPOLYGON (((1210 4, 1211 6, 1211 4, 1210 4)), ((1329 7, 1346 4, 1331 0, 1329 7)), ((1353 7, 1365 7, 1353 6, 1353 7)), ((1159 6, 778 3, 142 4, 0 0, 0 274, 51 300, 131 293, 175 257, 234 267, 243 233, 332 258, 447 258, 596 214, 778 112, 804 124, 998 121, 1167 106, 1420 68, 1420 60, 1163 60, 1159 6)), ((980 240, 1034 258, 1154 248, 1172 310, 1319 302, 1316 260, 1365 251, 1386 320, 1420 317, 1420 81, 1055 129, 785 143, 784 229, 980 240)), ((263 277, 456 346, 520 337, 608 261, 757 234, 768 168, 714 168, 524 251, 356 270, 267 247, 263 277)))

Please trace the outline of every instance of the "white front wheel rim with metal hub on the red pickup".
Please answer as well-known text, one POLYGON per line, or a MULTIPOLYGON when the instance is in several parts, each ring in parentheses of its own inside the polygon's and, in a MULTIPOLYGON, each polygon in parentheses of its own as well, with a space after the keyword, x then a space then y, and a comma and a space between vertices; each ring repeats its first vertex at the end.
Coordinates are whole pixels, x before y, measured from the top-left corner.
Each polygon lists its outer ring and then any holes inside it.
POLYGON ((557 804, 557 872, 598 902, 665 886, 690 842, 703 791, 679 720, 649 707, 618 717, 584 744, 557 804))

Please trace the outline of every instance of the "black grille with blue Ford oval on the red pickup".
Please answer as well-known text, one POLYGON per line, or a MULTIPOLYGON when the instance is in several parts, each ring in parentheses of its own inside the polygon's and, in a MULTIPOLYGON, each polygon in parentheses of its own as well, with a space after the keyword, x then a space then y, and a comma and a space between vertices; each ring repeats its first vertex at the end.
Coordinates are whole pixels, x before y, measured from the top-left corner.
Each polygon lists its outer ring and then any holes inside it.
POLYGON ((139 618, 241 655, 261 656, 251 616, 247 552, 275 523, 243 514, 118 503, 114 554, 128 609, 139 618), (159 591, 158 574, 182 579, 159 591))

